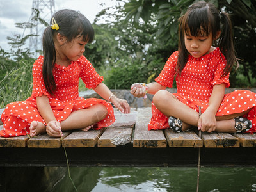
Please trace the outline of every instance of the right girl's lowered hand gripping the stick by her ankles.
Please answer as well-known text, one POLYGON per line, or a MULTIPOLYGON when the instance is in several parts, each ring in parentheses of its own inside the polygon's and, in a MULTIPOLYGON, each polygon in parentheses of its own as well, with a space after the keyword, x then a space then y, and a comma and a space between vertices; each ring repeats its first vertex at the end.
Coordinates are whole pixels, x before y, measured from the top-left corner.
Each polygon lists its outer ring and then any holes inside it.
POLYGON ((212 132, 216 129, 216 117, 211 111, 205 111, 198 120, 198 130, 212 132))

